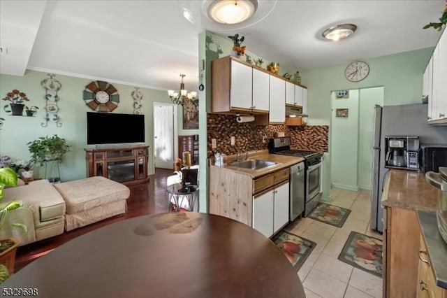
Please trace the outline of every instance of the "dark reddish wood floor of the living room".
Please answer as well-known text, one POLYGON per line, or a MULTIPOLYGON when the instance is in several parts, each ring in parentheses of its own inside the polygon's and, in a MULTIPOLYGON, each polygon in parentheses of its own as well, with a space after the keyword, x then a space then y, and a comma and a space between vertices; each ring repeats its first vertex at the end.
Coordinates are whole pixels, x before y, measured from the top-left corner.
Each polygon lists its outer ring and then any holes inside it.
POLYGON ((87 227, 74 229, 59 236, 30 243, 17 249, 15 255, 15 271, 19 271, 38 257, 50 253, 54 248, 74 239, 82 234, 98 229, 113 222, 135 218, 140 215, 168 212, 168 199, 166 195, 166 177, 173 175, 173 170, 156 169, 147 184, 131 185, 131 196, 127 199, 127 213, 113 218, 101 220, 87 227))

